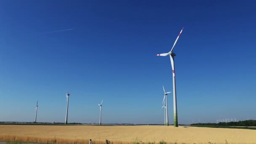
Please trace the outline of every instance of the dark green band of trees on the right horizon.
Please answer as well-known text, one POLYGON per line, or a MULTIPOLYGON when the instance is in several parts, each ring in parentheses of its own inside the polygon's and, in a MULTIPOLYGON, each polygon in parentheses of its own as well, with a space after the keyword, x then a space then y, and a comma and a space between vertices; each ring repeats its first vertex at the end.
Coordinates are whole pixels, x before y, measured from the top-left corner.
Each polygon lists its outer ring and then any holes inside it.
POLYGON ((191 125, 213 125, 213 126, 256 126, 256 120, 244 120, 238 122, 228 122, 228 123, 193 123, 191 125))

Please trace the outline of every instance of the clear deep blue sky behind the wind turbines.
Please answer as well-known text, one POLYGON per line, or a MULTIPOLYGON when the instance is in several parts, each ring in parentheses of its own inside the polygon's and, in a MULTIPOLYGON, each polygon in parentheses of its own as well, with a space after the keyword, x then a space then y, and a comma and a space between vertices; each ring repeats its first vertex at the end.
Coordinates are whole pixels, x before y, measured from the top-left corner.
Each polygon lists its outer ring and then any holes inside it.
MULTIPOLYGON (((254 1, 0 1, 0 121, 163 123, 174 49, 179 123, 256 119, 254 1), (62 29, 63 32, 45 33, 62 29)), ((173 123, 172 94, 169 123, 173 123)))

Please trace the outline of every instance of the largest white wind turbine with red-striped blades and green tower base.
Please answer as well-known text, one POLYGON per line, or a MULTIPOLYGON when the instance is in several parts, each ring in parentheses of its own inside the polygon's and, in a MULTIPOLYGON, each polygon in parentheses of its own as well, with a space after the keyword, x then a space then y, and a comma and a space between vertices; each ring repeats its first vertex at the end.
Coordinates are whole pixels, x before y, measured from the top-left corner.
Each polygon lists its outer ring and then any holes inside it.
MULTIPOLYGON (((181 29, 181 32, 183 31, 184 27, 181 29)), ((177 100, 176 100, 176 81, 175 81, 175 70, 174 70, 174 56, 176 56, 175 53, 173 53, 173 48, 176 45, 179 36, 181 35, 181 32, 179 33, 178 37, 176 38, 173 47, 171 48, 171 51, 168 53, 162 53, 162 54, 157 54, 157 56, 170 56, 171 59, 171 67, 173 70, 173 114, 174 114, 174 127, 178 127, 178 113, 177 113, 177 100)))

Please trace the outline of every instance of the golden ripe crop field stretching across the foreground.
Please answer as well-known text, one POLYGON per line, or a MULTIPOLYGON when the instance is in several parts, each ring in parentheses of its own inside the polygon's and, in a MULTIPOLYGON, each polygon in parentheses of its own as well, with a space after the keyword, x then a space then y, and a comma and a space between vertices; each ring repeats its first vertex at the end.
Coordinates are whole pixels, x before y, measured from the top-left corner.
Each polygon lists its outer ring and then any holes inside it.
POLYGON ((97 125, 0 125, 0 141, 52 142, 57 144, 113 144, 166 141, 168 144, 256 144, 256 130, 232 128, 199 128, 182 126, 97 126, 97 125))

